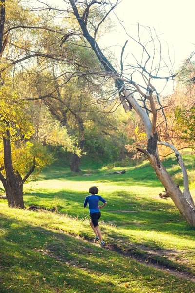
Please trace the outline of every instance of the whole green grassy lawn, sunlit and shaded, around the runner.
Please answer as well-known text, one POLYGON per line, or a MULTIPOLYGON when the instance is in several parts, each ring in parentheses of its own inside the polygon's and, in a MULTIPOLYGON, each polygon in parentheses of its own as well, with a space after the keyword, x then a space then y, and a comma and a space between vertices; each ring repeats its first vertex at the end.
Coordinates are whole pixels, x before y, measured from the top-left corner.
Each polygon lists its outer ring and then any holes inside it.
MULTIPOLYGON (((185 160, 193 174, 194 157, 185 160)), ((177 179, 176 161, 170 158, 165 165, 177 179)), ((164 188, 147 163, 117 169, 126 173, 110 175, 106 167, 89 165, 81 174, 65 167, 45 169, 26 184, 25 205, 56 207, 57 213, 9 209, 0 201, 0 292, 195 293, 194 283, 125 256, 195 273, 195 228, 171 199, 159 198, 164 188), (94 238, 83 208, 94 185, 108 202, 100 222, 108 250, 85 241, 94 238)), ((193 181, 191 188, 195 198, 193 181)))

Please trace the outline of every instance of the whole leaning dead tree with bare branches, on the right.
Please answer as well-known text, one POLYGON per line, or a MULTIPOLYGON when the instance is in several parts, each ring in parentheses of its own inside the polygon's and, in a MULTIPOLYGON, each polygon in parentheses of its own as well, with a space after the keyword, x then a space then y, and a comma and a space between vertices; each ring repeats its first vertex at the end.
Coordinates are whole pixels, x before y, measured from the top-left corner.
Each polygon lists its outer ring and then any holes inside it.
MULTIPOLYGON (((91 48, 96 53, 98 60, 104 67, 104 71, 99 72, 99 74, 107 75, 107 76, 110 75, 115 80, 118 91, 122 93, 121 100, 122 100, 124 109, 131 110, 131 107, 132 107, 137 112, 137 114, 139 115, 140 119, 143 122, 145 131, 147 134, 147 138, 148 138, 147 148, 138 149, 138 150, 143 152, 147 156, 151 166, 154 168, 163 186, 167 189, 170 197, 174 201, 180 213, 183 215, 183 217, 186 219, 186 221, 190 225, 195 226, 195 204, 193 202, 193 199, 189 191, 188 175, 187 175, 182 157, 180 153, 175 149, 174 146, 166 142, 161 142, 158 138, 158 133, 156 131, 156 123, 157 123, 157 117, 158 117, 156 105, 157 105, 157 108, 160 106, 162 113, 163 113, 163 107, 160 103, 159 94, 156 88, 154 87, 153 83, 155 82, 155 80, 158 80, 158 79, 164 79, 165 81, 167 81, 175 77, 175 75, 171 71, 168 71, 168 74, 165 76, 160 75, 162 73, 163 67, 168 69, 168 65, 165 59, 163 59, 162 57, 161 48, 159 50, 159 61, 157 65, 155 62, 156 56, 153 54, 153 56, 151 57, 149 50, 147 49, 149 45, 152 43, 154 52, 156 53, 155 39, 159 41, 157 34, 156 34, 156 37, 152 37, 151 30, 146 28, 151 34, 151 39, 150 39, 150 42, 142 43, 141 36, 140 36, 140 26, 138 25, 138 39, 137 40, 134 39, 134 41, 137 42, 137 44, 142 48, 141 60, 138 61, 137 58, 135 57, 137 64, 129 65, 129 68, 131 69, 131 74, 129 75, 129 77, 126 77, 124 73, 121 76, 119 76, 119 73, 117 72, 117 70, 109 62, 109 60, 106 58, 106 56, 103 54, 102 50, 98 46, 98 43, 96 42, 96 38, 95 38, 96 29, 94 31, 94 37, 92 37, 92 33, 89 32, 85 13, 80 14, 80 10, 81 10, 80 1, 69 0, 69 2, 72 7, 72 12, 74 16, 76 17, 76 19, 78 20, 83 36, 88 41, 91 48), (139 84, 138 82, 134 80, 134 75, 135 75, 134 73, 136 74, 138 73, 139 75, 141 75, 142 81, 143 81, 142 84, 139 84), (139 93, 141 97, 141 101, 144 106, 140 105, 140 102, 137 101, 136 97, 134 97, 134 94, 132 94, 132 88, 139 93), (145 107, 146 105, 149 111, 146 110, 146 107, 145 107), (179 165, 181 166, 183 177, 184 177, 185 189, 183 192, 181 191, 180 188, 177 187, 177 185, 174 183, 174 181, 168 174, 167 170, 163 166, 158 154, 158 144, 163 144, 167 147, 170 147, 176 153, 176 158, 179 165)), ((86 3, 85 11, 88 11, 88 13, 90 13, 90 9, 93 7, 93 5, 97 5, 99 7, 102 7, 102 6, 105 7, 106 5, 109 5, 109 7, 111 8, 110 9, 108 8, 108 11, 112 11, 115 7, 115 5, 112 5, 110 2, 90 1, 90 4, 86 3)), ((102 21, 99 22, 99 25, 101 23, 102 21)), ((99 27, 99 25, 97 27, 99 27)), ((133 38, 131 37, 131 39, 133 38)))

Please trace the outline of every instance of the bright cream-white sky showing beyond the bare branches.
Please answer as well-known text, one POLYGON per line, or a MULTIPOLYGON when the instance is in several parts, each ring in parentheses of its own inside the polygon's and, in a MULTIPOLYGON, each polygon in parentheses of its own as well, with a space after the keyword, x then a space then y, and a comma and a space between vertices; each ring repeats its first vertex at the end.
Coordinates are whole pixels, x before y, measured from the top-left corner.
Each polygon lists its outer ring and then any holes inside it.
MULTIPOLYGON (((38 4, 39 1, 34 0, 33 2, 38 4)), ((64 2, 67 1, 43 0, 39 5, 42 6, 43 2, 62 8, 66 5, 64 2)), ((164 57, 167 57, 167 60, 169 59, 167 49, 169 47, 169 55, 172 63, 174 63, 174 70, 177 70, 195 49, 194 0, 186 0, 185 2, 181 0, 121 0, 114 12, 127 32, 134 38, 137 35, 137 23, 155 28, 162 42, 164 57)), ((120 56, 121 47, 128 39, 117 17, 114 14, 111 16, 114 25, 113 31, 108 31, 98 40, 101 47, 109 47, 114 57, 120 56)), ((144 41, 145 36, 143 35, 142 38, 144 41)), ((131 53, 135 51, 137 51, 137 48, 134 47, 134 43, 128 42, 124 57, 129 54, 127 58, 130 58, 131 53)), ((173 86, 170 84, 167 89, 167 91, 171 91, 173 86)))

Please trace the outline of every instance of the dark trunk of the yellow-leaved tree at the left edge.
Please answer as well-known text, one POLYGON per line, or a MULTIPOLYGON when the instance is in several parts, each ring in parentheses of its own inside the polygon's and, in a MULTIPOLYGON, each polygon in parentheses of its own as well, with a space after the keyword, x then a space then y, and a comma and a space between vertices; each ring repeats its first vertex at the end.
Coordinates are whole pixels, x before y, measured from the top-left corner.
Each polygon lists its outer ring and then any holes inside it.
POLYGON ((13 165, 12 165, 12 154, 11 154, 9 130, 7 130, 6 132, 6 137, 3 137, 3 146, 4 146, 4 165, 5 165, 5 173, 6 173, 5 191, 8 198, 8 204, 10 207, 24 209, 23 185, 18 182, 17 177, 14 174, 13 165))

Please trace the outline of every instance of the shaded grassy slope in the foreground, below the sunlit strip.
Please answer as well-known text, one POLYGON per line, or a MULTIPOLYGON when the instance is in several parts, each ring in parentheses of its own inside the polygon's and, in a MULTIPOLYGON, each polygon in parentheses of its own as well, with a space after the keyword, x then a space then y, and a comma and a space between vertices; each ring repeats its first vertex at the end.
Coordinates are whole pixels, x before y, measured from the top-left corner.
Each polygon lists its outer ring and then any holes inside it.
MULTIPOLYGON (((183 293, 190 292, 185 291, 184 280, 177 280, 172 285, 171 280, 175 277, 165 278, 161 271, 111 251, 102 251, 74 237, 3 215, 0 221, 3 229, 0 238, 1 293, 123 293, 126 283, 132 286, 128 292, 136 289, 139 292, 143 280, 144 288, 149 292, 161 284, 162 277, 166 280, 163 281, 164 290, 171 290, 167 292, 180 292, 182 287, 183 293)), ((191 283, 188 284, 190 289, 193 289, 191 283)))

